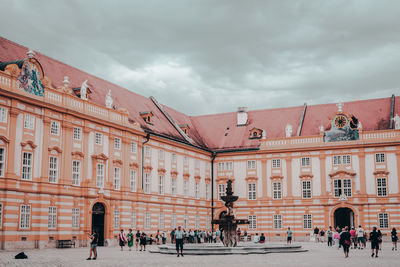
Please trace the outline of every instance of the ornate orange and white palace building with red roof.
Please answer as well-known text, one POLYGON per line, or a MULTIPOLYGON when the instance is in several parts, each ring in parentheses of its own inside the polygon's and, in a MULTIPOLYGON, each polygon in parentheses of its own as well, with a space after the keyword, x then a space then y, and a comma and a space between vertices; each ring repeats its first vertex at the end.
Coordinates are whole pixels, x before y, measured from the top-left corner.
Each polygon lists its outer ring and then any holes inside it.
POLYGON ((250 234, 388 232, 400 227, 398 113, 393 95, 188 116, 0 38, 1 249, 211 229, 228 179, 250 234))

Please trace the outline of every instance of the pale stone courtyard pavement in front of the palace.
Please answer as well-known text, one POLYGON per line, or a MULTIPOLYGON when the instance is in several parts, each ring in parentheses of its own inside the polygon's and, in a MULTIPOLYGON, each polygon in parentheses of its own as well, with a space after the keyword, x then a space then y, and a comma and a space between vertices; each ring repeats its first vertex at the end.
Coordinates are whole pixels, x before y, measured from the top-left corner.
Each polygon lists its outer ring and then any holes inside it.
MULTIPOLYGON (((350 250, 345 259, 342 250, 328 248, 326 243, 301 243, 308 252, 273 253, 235 256, 185 256, 150 254, 125 251, 118 247, 100 247, 96 261, 85 260, 88 248, 26 250, 26 260, 15 260, 19 251, 1 251, 0 266, 400 266, 400 250, 392 251, 391 243, 384 243, 379 258, 371 258, 370 249, 350 250)), ((368 244, 369 248, 370 244, 368 244)))

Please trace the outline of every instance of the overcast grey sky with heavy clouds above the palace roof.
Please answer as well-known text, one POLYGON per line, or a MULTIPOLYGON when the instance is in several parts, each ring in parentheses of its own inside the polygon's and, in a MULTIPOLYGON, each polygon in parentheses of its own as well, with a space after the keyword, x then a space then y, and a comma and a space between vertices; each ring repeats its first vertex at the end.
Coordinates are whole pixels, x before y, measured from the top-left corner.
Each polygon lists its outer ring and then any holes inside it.
POLYGON ((0 6, 1 36, 189 115, 400 95, 400 1, 0 6))

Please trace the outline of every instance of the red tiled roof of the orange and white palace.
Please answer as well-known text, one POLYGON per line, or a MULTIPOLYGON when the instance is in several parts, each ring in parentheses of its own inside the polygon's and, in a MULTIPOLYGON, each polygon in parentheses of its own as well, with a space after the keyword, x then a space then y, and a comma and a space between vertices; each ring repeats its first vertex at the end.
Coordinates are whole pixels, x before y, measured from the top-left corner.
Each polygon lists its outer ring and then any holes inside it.
MULTIPOLYGON (((27 47, 0 37, 0 62, 26 58, 27 47)), ((64 76, 68 76, 71 87, 80 87, 84 80, 92 89, 91 101, 105 105, 105 96, 112 91, 114 104, 126 108, 132 120, 139 122, 147 131, 161 134, 178 141, 186 142, 180 133, 166 119, 164 114, 147 97, 136 94, 111 82, 64 64, 58 60, 36 53, 44 73, 52 80, 54 87, 61 86, 64 76), (147 124, 139 112, 151 111, 152 124, 147 124)), ((394 114, 400 113, 400 98, 396 97, 394 114)), ((266 104, 268 102, 266 101, 266 104)), ((293 126, 292 136, 299 127, 303 106, 254 110, 248 112, 248 124, 236 125, 236 112, 205 116, 188 116, 170 107, 163 109, 179 124, 189 126, 189 137, 196 145, 212 150, 257 148, 258 139, 249 139, 250 130, 254 127, 262 129, 267 138, 285 137, 286 124, 293 126)), ((343 111, 358 118, 364 130, 383 130, 389 128, 391 98, 361 100, 344 103, 343 111)), ((330 125, 332 115, 337 111, 335 104, 307 106, 301 136, 319 134, 318 127, 330 125)))

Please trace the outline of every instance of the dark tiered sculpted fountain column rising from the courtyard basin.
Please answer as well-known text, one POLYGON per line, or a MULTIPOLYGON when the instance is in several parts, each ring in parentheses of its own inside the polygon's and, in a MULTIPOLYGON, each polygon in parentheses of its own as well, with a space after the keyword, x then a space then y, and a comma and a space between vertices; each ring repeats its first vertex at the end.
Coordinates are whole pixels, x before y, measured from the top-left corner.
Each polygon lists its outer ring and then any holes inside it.
POLYGON ((246 219, 235 219, 233 214, 233 202, 238 200, 238 196, 234 196, 232 192, 232 180, 229 179, 226 186, 226 196, 221 199, 225 202, 226 214, 222 215, 219 220, 212 220, 213 224, 218 224, 221 230, 222 243, 225 247, 236 247, 237 233, 236 228, 238 224, 249 224, 246 219))

